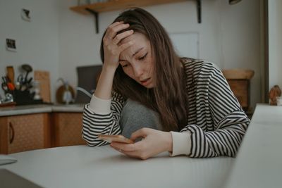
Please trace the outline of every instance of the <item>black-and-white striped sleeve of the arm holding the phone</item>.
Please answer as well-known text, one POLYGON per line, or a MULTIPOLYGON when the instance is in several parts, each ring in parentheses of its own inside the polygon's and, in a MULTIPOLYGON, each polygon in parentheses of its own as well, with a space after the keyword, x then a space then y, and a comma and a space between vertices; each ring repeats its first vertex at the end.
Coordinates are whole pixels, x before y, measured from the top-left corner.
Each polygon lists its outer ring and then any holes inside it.
POLYGON ((250 120, 219 69, 210 70, 206 89, 213 130, 203 130, 198 125, 187 125, 181 130, 191 133, 190 157, 234 157, 250 120))

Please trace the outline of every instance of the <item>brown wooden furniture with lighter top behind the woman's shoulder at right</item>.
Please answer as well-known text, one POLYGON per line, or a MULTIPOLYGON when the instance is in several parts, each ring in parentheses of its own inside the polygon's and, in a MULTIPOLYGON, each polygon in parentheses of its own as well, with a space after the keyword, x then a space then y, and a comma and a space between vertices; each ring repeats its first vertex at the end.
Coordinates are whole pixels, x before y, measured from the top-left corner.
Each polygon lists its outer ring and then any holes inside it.
POLYGON ((254 70, 228 69, 222 70, 224 77, 240 105, 245 112, 250 109, 250 80, 254 76, 254 70))

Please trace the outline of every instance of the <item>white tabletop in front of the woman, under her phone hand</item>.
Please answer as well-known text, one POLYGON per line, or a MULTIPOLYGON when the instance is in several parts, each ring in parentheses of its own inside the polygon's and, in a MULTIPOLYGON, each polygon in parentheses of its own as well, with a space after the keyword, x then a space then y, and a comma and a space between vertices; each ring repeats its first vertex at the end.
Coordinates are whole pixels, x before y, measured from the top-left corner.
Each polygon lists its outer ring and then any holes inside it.
POLYGON ((128 158, 109 146, 66 146, 14 153, 2 165, 42 187, 222 187, 234 158, 128 158))

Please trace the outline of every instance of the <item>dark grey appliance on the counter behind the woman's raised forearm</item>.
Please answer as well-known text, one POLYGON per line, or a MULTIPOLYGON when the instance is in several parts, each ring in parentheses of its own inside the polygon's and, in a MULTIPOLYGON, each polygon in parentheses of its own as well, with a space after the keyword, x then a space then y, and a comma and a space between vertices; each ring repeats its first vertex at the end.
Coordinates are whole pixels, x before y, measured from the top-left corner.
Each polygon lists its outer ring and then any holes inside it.
MULTIPOLYGON (((102 65, 80 66, 76 68, 78 73, 78 87, 92 93, 97 87, 97 79, 102 70, 102 65)), ((77 89, 75 103, 87 104, 90 102, 90 97, 77 89)))

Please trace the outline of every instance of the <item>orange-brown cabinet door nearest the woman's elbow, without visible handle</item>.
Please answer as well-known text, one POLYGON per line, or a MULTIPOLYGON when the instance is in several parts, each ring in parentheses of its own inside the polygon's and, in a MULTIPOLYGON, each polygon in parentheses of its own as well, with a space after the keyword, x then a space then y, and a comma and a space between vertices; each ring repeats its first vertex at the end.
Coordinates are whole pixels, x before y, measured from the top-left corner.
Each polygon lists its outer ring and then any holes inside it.
POLYGON ((54 141, 53 146, 82 145, 82 113, 53 113, 54 141))

